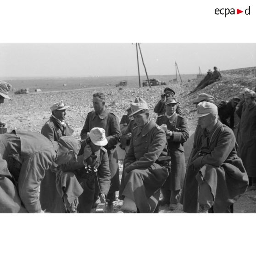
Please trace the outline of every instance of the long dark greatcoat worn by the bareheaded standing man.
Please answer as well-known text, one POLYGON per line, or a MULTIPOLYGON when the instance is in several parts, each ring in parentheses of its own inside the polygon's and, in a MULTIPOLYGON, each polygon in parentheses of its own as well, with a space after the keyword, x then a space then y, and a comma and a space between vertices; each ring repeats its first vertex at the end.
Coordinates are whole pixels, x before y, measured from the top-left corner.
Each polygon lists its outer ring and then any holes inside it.
POLYGON ((95 111, 88 113, 83 129, 81 131, 81 139, 87 138, 87 133, 94 127, 100 127, 106 131, 106 139, 108 141, 106 148, 109 158, 109 168, 111 172, 111 183, 109 194, 118 191, 120 187, 119 183, 119 169, 118 169, 118 156, 117 156, 117 144, 121 138, 120 125, 118 117, 109 112, 107 109, 100 115, 97 115, 95 111))

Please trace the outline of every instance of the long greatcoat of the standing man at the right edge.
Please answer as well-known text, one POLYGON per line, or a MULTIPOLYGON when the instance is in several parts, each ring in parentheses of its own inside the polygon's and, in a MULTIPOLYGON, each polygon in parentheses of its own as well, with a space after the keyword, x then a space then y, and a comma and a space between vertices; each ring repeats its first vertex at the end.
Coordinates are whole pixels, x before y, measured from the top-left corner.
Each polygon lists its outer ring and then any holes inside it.
POLYGON ((239 147, 241 157, 249 177, 256 177, 256 103, 243 105, 239 124, 239 147))

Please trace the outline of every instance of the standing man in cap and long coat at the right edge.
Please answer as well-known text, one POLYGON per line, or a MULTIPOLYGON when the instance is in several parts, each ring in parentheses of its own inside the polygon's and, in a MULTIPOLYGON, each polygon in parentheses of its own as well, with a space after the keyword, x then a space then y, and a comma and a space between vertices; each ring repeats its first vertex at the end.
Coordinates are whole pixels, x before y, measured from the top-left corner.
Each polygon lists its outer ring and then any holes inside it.
POLYGON ((256 190, 256 93, 245 91, 245 104, 241 112, 238 155, 249 176, 249 189, 256 190))

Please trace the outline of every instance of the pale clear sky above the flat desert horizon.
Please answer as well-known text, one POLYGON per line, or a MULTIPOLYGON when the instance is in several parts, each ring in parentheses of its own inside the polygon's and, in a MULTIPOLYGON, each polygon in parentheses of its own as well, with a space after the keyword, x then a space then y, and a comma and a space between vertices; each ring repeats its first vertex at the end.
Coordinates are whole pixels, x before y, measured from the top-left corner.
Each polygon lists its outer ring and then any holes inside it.
MULTIPOLYGON (((256 43, 141 43, 148 75, 256 66, 256 43)), ((139 56, 141 75, 145 75, 139 56)), ((137 75, 132 43, 0 43, 0 78, 137 75)))

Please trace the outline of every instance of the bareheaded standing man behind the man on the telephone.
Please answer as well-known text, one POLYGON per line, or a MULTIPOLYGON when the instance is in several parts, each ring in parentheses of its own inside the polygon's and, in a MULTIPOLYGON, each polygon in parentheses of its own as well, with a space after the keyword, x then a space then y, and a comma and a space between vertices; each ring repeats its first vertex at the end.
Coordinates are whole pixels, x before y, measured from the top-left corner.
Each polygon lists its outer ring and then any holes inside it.
MULTIPOLYGON (((92 128, 100 127, 106 131, 107 145, 104 146, 108 153, 109 168, 111 172, 110 189, 107 195, 109 210, 113 210, 113 201, 116 200, 116 191, 119 190, 119 169, 117 157, 117 144, 121 138, 120 125, 118 117, 109 112, 105 106, 105 95, 103 93, 95 93, 93 95, 94 111, 88 113, 83 129, 81 131, 81 139, 88 137, 87 133, 92 128)), ((99 202, 99 198, 97 199, 99 202)))

